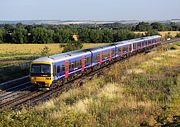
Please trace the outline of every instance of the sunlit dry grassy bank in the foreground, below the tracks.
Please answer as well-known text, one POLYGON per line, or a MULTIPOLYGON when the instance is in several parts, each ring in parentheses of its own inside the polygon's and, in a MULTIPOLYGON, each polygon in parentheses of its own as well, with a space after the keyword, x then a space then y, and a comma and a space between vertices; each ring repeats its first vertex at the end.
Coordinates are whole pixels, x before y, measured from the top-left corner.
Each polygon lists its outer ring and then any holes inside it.
POLYGON ((0 114, 0 126, 180 125, 180 43, 158 47, 34 108, 0 114))

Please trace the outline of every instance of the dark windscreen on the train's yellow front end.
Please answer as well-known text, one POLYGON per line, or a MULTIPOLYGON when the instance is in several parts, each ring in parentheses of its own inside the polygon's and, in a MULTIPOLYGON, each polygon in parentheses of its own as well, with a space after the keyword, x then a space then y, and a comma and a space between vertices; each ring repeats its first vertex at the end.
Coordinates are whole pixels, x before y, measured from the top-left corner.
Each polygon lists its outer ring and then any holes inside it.
POLYGON ((50 74, 51 66, 49 64, 32 64, 31 73, 32 74, 50 74))

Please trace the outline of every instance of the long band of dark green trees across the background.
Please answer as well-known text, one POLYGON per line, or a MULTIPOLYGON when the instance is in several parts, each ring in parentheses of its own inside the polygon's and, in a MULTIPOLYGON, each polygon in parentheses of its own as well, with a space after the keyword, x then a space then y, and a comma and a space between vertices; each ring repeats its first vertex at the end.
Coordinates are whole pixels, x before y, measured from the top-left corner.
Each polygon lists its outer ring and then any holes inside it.
POLYGON ((80 42, 117 42, 142 36, 158 34, 158 31, 180 31, 176 23, 159 22, 138 24, 89 24, 89 25, 0 25, 0 43, 67 43, 73 35, 80 42), (134 31, 146 31, 135 34, 134 31))

